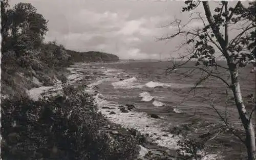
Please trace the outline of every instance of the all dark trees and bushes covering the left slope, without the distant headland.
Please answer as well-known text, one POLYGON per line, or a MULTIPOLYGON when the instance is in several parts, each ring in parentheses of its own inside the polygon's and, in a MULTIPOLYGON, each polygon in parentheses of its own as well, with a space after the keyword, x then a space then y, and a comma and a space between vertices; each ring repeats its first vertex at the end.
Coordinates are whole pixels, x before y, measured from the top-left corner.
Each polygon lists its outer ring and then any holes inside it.
POLYGON ((1 95, 8 96, 1 96, 1 157, 135 159, 137 140, 97 113, 82 88, 62 81, 62 96, 38 101, 27 96, 27 89, 65 77, 74 60, 62 45, 43 42, 48 21, 31 4, 8 8, 8 1, 1 1, 1 18, 1 95))

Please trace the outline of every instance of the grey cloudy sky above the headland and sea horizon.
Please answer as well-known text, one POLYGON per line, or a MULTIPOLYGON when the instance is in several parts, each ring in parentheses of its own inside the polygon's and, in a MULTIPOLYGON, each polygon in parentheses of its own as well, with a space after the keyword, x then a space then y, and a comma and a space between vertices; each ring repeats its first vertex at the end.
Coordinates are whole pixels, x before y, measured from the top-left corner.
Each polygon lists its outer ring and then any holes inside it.
MULTIPOLYGON (((75 51, 103 51, 120 59, 170 58, 184 40, 157 41, 172 34, 176 27, 166 26, 175 17, 186 22, 190 13, 182 13, 182 1, 139 0, 10 0, 31 3, 49 20, 46 41, 57 40, 75 51)), ((217 2, 212 2, 217 5, 217 2)), ((196 12, 203 12, 199 7, 196 12)), ((190 27, 198 27, 194 21, 190 27)), ((184 50, 179 51, 179 53, 184 50)))

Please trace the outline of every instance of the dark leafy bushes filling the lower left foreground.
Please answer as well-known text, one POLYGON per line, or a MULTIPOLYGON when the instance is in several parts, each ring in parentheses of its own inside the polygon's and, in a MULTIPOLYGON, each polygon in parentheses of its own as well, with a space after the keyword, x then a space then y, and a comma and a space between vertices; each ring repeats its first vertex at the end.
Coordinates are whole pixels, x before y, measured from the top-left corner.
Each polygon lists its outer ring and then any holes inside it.
POLYGON ((109 124, 94 100, 70 85, 63 96, 2 101, 3 159, 135 159, 136 141, 101 128, 109 124))

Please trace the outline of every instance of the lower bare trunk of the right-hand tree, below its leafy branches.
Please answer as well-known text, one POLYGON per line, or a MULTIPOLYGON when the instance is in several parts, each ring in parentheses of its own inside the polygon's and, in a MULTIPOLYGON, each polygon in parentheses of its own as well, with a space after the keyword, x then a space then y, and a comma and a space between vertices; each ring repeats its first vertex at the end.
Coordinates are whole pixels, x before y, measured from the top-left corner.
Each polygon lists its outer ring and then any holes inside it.
POLYGON ((248 160, 255 160, 255 133, 249 114, 246 112, 245 105, 243 103, 240 84, 238 81, 238 71, 230 70, 230 75, 232 82, 231 89, 234 95, 234 101, 236 102, 239 116, 245 129, 245 145, 247 149, 248 160))

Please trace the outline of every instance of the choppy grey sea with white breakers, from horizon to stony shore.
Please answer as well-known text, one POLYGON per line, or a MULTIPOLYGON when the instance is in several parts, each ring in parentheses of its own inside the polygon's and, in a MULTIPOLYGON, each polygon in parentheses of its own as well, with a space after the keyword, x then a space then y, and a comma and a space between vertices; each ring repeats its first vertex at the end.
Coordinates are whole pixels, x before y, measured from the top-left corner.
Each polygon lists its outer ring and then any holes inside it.
MULTIPOLYGON (((225 67, 225 61, 218 63, 225 67)), ((195 139, 222 128, 224 123, 216 110, 227 119, 229 126, 243 132, 232 93, 222 80, 208 77, 199 83, 206 74, 189 68, 194 67, 195 62, 189 62, 185 68, 169 73, 167 69, 171 66, 170 61, 120 60, 77 63, 74 67, 84 74, 94 73, 93 81, 88 85, 96 88, 98 94, 95 99, 99 107, 116 108, 116 115, 109 115, 110 110, 101 109, 109 119, 143 133, 154 133, 152 137, 159 145, 177 148, 178 138, 157 139, 156 136, 177 126, 190 124, 188 134, 195 139), (118 106, 125 104, 134 104, 136 108, 129 114, 121 113, 118 106), (148 117, 152 113, 161 119, 148 117)), ((239 70, 241 91, 248 112, 255 106, 255 100, 251 99, 251 94, 255 97, 255 72, 251 72, 251 69, 252 66, 247 66, 239 70)), ((225 68, 218 67, 215 72, 230 82, 229 72, 225 68)), ((252 117, 255 122, 255 115, 252 117)), ((215 159, 244 159, 246 155, 245 146, 228 131, 219 133, 207 142, 207 146, 209 154, 219 155, 215 159)))

